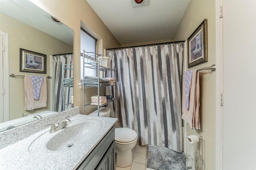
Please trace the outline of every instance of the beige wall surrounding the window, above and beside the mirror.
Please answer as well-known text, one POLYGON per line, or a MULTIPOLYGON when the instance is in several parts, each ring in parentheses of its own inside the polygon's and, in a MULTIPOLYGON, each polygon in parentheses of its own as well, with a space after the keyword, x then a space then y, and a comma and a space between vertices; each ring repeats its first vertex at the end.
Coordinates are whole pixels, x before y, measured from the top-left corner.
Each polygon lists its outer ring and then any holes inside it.
MULTIPOLYGON (((31 0, 37 6, 54 16, 66 26, 74 30, 74 107, 80 107, 82 113, 82 89, 80 83, 80 27, 98 39, 98 53, 103 49, 120 47, 120 43, 112 35, 106 25, 86 2, 86 0, 31 0)), ((95 88, 96 89, 96 88, 95 88)), ((96 95, 94 89, 86 89, 86 100, 96 95)), ((90 110, 87 110, 90 112, 90 110)))

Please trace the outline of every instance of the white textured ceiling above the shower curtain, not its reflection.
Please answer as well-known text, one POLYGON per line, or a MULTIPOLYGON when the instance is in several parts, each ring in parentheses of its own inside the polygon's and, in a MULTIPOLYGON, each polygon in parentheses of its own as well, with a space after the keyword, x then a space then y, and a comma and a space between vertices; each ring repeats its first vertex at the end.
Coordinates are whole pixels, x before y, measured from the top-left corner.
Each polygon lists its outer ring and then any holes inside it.
POLYGON ((190 0, 149 0, 133 8, 131 0, 86 0, 120 44, 170 40, 190 0))

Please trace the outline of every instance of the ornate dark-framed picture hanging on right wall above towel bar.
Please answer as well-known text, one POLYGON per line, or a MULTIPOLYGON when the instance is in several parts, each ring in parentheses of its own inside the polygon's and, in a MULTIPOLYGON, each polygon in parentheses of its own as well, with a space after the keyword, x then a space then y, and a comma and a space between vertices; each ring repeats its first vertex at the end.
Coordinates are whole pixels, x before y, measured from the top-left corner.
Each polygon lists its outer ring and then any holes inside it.
POLYGON ((207 54, 207 20, 196 28, 188 38, 188 68, 208 61, 207 54))

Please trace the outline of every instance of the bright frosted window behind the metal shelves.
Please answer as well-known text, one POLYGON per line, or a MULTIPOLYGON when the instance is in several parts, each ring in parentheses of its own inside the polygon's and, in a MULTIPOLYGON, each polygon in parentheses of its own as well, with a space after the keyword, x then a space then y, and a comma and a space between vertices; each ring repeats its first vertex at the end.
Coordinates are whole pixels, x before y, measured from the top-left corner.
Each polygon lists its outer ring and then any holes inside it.
MULTIPOLYGON (((87 52, 93 52, 96 53, 96 42, 97 40, 90 36, 90 34, 88 34, 87 32, 85 32, 82 28, 81 28, 81 38, 80 38, 80 44, 81 44, 81 53, 83 53, 83 49, 84 51, 87 52)), ((91 55, 90 53, 88 55, 91 55)), ((87 62, 87 58, 85 59, 87 62)), ((88 62, 95 62, 92 59, 88 59, 88 62)), ((84 68, 84 73, 85 75, 88 76, 96 76, 96 70, 94 69, 89 69, 89 68, 84 68)), ((83 79, 83 57, 81 56, 81 80, 83 79)))

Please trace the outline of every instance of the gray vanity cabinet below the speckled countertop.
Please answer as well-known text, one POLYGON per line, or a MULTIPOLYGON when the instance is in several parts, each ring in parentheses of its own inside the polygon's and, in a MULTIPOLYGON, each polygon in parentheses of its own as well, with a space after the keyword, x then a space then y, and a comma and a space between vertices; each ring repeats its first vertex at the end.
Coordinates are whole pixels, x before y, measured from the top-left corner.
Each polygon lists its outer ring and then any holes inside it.
POLYGON ((112 127, 77 170, 115 170, 115 128, 112 127))

